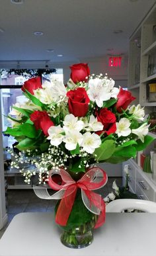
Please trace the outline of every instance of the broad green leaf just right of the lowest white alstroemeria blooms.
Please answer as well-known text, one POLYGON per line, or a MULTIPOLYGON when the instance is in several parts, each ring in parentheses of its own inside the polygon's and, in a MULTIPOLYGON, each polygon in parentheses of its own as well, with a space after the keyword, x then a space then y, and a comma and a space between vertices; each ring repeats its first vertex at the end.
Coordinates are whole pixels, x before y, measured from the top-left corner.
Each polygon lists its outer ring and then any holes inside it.
POLYGON ((110 156, 112 155, 112 153, 114 153, 115 150, 115 142, 114 140, 105 140, 104 142, 102 142, 102 144, 100 144, 99 148, 95 149, 95 159, 97 159, 97 161, 104 161, 108 158, 110 158, 110 156))

